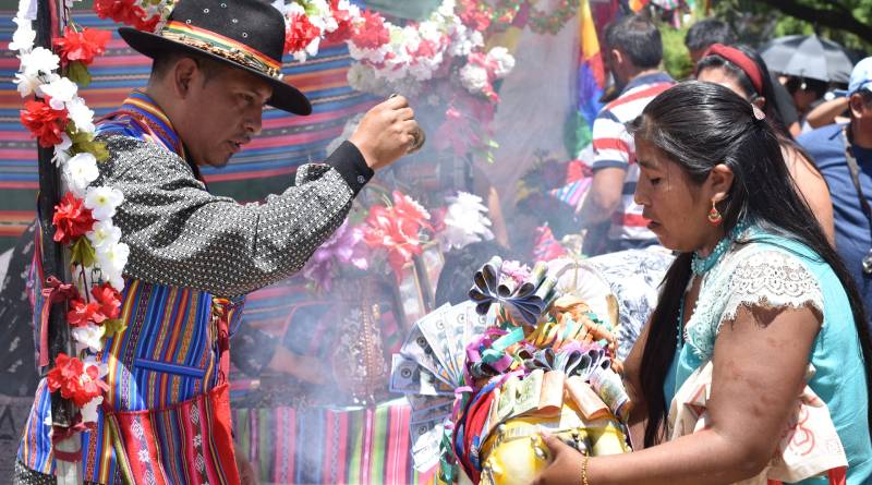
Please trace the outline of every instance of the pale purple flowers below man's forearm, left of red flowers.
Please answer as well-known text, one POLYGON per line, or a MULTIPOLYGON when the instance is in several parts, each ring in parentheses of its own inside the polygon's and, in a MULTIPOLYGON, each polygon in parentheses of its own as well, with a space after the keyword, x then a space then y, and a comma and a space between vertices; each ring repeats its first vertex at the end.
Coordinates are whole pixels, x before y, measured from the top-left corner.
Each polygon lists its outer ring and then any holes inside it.
POLYGON ((370 262, 364 253, 363 230, 350 227, 348 219, 324 242, 303 269, 303 276, 315 282, 316 287, 329 291, 332 286, 334 268, 351 264, 358 269, 367 269, 370 262))

